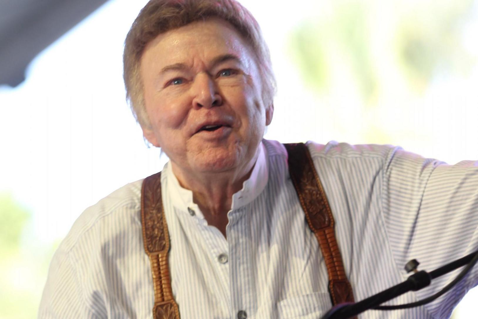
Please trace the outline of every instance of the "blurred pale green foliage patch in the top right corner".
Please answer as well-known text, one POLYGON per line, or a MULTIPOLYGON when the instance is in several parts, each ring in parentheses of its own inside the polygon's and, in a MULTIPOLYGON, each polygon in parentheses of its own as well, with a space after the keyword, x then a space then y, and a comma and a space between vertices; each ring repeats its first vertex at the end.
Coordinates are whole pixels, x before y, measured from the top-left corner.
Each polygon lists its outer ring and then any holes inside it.
POLYGON ((473 5, 473 0, 441 0, 401 17, 396 49, 412 84, 426 87, 438 72, 466 71, 470 57, 463 49, 460 27, 473 5))

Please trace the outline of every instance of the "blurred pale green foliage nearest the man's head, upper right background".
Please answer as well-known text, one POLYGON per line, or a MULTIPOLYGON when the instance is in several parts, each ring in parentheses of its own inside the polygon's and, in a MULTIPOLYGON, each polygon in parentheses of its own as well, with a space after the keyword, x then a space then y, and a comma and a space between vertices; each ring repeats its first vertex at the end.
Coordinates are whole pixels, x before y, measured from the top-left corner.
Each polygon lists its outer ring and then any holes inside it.
POLYGON ((364 97, 373 95, 377 78, 367 40, 367 7, 365 1, 334 2, 333 14, 304 20, 292 33, 292 54, 310 88, 330 88, 330 66, 338 58, 353 71, 364 97))

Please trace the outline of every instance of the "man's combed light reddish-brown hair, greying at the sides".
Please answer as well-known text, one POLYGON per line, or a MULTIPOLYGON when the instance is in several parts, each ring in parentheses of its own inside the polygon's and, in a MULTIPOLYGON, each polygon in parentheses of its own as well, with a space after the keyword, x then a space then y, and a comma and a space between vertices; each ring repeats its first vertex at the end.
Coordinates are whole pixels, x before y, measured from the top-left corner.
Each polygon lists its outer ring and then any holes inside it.
POLYGON ((250 44, 256 55, 266 106, 272 104, 276 82, 269 49, 252 14, 235 0, 150 0, 131 25, 123 53, 126 99, 136 121, 149 128, 141 81, 141 56, 146 45, 159 34, 196 21, 219 18, 229 22, 250 44))

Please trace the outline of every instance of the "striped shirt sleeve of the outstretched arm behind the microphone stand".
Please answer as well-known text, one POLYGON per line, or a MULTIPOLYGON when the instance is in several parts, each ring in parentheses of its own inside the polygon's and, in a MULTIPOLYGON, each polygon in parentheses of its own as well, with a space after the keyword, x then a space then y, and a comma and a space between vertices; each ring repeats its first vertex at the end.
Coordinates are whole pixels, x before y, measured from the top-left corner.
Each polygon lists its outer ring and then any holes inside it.
MULTIPOLYGON (((382 212, 397 267, 417 259, 419 270, 430 272, 478 249, 478 162, 447 165, 392 149, 383 181, 382 212)), ((434 279, 416 292, 417 298, 438 292, 458 273, 434 279)), ((435 318, 447 318, 477 285, 475 266, 452 291, 425 307, 435 318)))

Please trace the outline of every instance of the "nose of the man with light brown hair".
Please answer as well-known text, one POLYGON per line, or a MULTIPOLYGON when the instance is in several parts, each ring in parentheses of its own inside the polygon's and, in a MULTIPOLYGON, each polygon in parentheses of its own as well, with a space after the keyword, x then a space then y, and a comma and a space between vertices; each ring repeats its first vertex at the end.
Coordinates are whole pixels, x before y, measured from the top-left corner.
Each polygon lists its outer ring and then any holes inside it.
POLYGON ((222 98, 217 91, 214 80, 204 73, 196 75, 193 84, 193 106, 195 108, 212 108, 222 105, 222 98))

